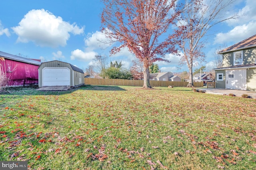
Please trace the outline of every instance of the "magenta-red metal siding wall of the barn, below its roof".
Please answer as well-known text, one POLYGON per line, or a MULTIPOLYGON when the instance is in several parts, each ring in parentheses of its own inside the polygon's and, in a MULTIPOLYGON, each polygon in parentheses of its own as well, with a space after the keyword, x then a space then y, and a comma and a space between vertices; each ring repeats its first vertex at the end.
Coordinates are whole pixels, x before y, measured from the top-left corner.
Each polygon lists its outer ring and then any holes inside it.
POLYGON ((10 76, 8 86, 25 86, 38 84, 38 67, 29 63, 22 63, 10 59, 5 59, 5 71, 7 77, 10 76))

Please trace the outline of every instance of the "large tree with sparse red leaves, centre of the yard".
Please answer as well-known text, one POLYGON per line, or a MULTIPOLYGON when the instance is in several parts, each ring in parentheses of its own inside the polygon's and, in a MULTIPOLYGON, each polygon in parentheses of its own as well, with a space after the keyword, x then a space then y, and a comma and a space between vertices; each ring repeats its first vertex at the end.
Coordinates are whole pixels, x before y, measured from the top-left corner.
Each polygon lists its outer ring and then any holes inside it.
POLYGON ((166 53, 176 53, 175 43, 167 31, 179 12, 172 13, 177 0, 102 0, 102 25, 108 38, 122 44, 113 47, 112 54, 128 47, 143 62, 143 88, 151 88, 149 66, 164 59, 166 53), (158 42, 163 34, 166 39, 158 42), (167 38, 168 37, 168 38, 167 38))

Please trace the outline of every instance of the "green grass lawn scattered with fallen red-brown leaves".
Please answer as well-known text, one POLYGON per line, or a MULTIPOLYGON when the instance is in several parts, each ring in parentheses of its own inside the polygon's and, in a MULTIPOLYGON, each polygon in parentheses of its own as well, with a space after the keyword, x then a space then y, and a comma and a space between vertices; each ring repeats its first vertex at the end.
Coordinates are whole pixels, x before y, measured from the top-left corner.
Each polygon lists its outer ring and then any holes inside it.
POLYGON ((28 169, 255 169, 256 100, 85 85, 0 94, 0 161, 28 169))

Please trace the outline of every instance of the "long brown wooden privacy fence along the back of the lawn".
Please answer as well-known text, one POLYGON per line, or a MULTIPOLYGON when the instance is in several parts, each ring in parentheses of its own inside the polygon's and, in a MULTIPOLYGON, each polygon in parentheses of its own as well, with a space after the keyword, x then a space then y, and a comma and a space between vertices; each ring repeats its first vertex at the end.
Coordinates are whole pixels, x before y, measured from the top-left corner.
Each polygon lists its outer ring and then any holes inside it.
MULTIPOLYGON (((95 79, 84 78, 84 84, 86 85, 126 85, 126 86, 143 86, 143 80, 124 80, 124 79, 95 79)), ((169 85, 174 87, 186 87, 187 81, 153 81, 150 80, 152 87, 168 87, 169 85)), ((203 87, 203 82, 194 82, 194 87, 203 87)))

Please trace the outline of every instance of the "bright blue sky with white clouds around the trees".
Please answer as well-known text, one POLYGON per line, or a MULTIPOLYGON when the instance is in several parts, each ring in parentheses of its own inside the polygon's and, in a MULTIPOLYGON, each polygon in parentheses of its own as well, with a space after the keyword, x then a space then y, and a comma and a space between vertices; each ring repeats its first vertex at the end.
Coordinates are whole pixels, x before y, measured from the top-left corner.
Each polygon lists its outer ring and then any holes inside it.
MULTIPOLYGON (((110 48, 97 40, 106 39, 100 32, 100 0, 8 0, 1 2, 0 51, 42 61, 60 60, 85 69, 92 64, 94 55, 109 56, 110 48)), ((237 0, 226 16, 243 14, 237 20, 223 22, 210 30, 204 52, 207 71, 214 66, 214 51, 220 45, 227 46, 256 34, 256 0, 237 0)), ((179 57, 166 54, 171 63, 158 62, 160 70, 177 69, 179 57)), ((124 67, 132 66, 135 56, 124 49, 109 57, 110 61, 122 61, 124 67)), ((194 67, 196 68, 196 67, 194 67)))

